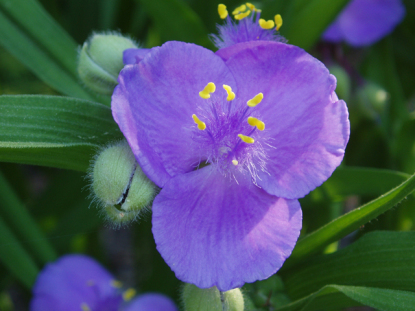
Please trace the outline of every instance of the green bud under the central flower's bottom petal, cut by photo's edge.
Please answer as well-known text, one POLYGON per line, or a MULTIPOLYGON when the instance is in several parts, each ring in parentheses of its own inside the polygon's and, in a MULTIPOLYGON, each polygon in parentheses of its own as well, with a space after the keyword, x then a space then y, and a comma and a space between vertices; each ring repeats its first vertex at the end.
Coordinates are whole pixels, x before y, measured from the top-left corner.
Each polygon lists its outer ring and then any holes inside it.
POLYGON ((244 297, 239 288, 219 292, 216 286, 199 288, 185 284, 182 293, 185 311, 243 311, 244 297))

